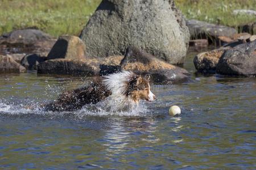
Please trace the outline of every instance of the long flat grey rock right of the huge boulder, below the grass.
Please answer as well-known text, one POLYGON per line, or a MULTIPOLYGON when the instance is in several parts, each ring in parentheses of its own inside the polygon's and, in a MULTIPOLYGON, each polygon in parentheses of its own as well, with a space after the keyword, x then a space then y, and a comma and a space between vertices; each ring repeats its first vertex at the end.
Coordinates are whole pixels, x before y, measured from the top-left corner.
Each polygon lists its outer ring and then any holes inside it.
POLYGON ((191 33, 192 39, 210 39, 211 41, 218 40, 220 36, 232 38, 236 33, 236 29, 226 27, 224 25, 210 24, 199 20, 187 20, 187 26, 191 33))

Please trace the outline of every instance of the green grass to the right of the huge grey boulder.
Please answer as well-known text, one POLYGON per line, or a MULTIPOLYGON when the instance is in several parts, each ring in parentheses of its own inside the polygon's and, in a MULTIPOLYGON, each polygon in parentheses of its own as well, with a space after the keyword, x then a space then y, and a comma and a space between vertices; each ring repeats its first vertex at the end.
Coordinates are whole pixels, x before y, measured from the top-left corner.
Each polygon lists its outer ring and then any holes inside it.
POLYGON ((233 10, 256 10, 255 0, 176 0, 188 19, 235 27, 256 22, 256 16, 233 15, 233 10))

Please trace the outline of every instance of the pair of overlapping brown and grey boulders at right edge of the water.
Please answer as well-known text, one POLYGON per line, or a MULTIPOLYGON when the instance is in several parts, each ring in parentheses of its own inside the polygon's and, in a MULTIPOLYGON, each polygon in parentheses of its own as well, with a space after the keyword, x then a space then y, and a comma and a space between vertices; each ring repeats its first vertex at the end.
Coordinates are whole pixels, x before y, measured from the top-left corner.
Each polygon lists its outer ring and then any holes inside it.
POLYGON ((231 76, 256 75, 256 40, 234 41, 194 58, 197 72, 231 76))

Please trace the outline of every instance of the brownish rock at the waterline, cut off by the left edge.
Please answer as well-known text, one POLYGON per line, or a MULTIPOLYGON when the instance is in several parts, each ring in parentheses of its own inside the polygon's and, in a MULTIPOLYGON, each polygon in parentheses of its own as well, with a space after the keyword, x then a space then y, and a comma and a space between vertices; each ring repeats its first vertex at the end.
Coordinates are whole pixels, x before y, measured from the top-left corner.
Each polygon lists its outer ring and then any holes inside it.
POLYGON ((0 55, 0 73, 24 73, 26 68, 10 56, 0 55))

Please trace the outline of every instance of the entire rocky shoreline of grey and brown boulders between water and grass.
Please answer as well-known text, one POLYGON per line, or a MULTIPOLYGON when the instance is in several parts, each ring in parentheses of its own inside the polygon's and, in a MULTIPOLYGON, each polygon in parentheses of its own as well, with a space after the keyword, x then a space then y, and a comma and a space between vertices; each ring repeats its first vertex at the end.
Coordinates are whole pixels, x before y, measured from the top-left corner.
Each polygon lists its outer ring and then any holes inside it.
MULTIPOLYGON (((125 3, 117 0, 113 2, 117 6, 125 3)), ((127 9, 122 8, 124 13, 119 14, 119 9, 114 8, 114 15, 103 15, 100 9, 108 7, 110 10, 111 6, 106 6, 102 1, 80 37, 64 35, 56 40, 34 28, 6 33, 0 36, 0 73, 36 70, 38 74, 93 76, 123 69, 150 74, 154 83, 184 82, 189 79, 189 73, 176 65, 184 63, 188 45, 207 48, 214 44, 220 48, 195 56, 193 62, 197 72, 229 76, 256 75, 256 35, 238 33, 234 28, 197 20, 185 21, 173 1, 166 5, 170 9, 167 13, 161 13, 162 6, 137 4, 141 8, 152 8, 162 19, 166 18, 165 15, 175 14, 175 18, 168 18, 170 24, 161 30, 157 27, 159 20, 154 20, 155 16, 147 13, 128 15, 129 11, 125 12, 127 9), (144 15, 151 18, 150 27, 142 25, 144 15), (106 17, 111 18, 108 20, 106 17), (129 19, 131 22, 126 25, 129 19), (113 29, 114 23, 123 28, 113 29), (100 30, 102 27, 104 31, 100 30), (170 31, 174 34, 169 35, 170 31)))

